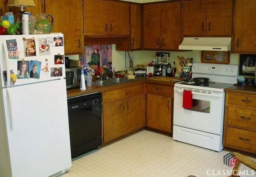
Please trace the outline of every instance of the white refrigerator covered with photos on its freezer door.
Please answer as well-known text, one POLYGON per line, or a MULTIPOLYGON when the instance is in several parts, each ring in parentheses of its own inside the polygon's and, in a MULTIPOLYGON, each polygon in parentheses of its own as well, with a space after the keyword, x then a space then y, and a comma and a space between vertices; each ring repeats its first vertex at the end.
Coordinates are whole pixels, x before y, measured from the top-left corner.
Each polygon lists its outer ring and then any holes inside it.
POLYGON ((62 34, 0 38, 0 177, 71 167, 62 34))

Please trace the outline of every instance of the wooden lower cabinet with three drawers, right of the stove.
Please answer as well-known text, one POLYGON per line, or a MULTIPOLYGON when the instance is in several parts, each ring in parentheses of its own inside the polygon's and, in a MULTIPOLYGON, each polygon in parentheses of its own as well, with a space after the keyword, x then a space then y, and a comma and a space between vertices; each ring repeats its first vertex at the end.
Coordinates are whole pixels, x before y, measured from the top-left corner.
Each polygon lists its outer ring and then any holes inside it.
POLYGON ((256 154, 256 94, 227 92, 224 147, 256 154))

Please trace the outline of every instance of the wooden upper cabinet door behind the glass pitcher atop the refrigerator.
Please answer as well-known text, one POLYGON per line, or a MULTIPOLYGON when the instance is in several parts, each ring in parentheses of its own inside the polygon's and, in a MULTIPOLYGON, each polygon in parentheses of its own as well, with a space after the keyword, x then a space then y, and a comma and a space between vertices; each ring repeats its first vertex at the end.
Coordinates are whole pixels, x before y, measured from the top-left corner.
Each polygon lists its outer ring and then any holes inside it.
POLYGON ((53 16, 52 32, 63 33, 65 54, 83 51, 82 1, 46 0, 46 13, 53 16), (60 6, 61 4, 61 6, 60 6))

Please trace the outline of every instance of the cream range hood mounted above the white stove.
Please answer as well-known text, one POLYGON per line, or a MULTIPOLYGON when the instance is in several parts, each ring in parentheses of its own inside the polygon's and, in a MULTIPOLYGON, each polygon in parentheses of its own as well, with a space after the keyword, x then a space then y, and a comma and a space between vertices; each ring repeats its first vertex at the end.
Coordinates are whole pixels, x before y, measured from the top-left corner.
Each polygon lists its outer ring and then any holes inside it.
POLYGON ((179 45, 181 50, 230 51, 230 37, 185 37, 179 45))

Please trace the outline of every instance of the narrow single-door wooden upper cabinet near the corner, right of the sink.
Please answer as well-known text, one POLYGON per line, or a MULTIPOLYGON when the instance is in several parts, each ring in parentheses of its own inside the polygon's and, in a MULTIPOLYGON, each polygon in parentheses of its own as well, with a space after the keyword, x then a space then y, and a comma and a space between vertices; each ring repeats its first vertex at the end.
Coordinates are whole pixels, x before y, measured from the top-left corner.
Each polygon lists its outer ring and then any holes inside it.
POLYGON ((131 4, 131 50, 142 47, 142 10, 141 5, 131 4))

